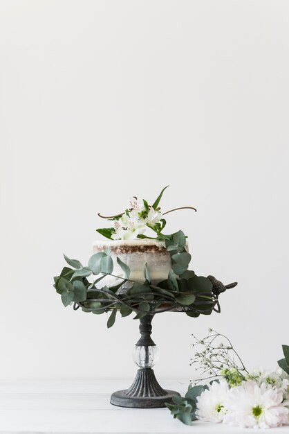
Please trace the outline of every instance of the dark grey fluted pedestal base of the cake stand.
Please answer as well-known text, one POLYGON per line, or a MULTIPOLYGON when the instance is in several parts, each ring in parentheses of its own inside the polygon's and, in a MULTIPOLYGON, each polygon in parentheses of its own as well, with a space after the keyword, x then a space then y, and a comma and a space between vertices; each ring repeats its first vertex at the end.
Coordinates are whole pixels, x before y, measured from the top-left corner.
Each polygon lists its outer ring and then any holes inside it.
POLYGON ((174 390, 162 389, 151 367, 145 367, 138 370, 129 389, 111 395, 111 403, 128 408, 160 408, 165 407, 165 403, 172 403, 174 395, 180 396, 174 390))

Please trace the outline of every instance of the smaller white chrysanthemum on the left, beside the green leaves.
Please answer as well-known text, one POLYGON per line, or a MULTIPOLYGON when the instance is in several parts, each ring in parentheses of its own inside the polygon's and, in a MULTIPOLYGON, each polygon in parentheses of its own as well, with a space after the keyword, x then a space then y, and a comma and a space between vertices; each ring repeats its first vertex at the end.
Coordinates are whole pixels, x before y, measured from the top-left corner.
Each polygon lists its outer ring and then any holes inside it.
POLYGON ((204 390, 197 398, 196 417, 206 422, 222 422, 227 413, 225 401, 229 393, 229 386, 225 380, 214 381, 209 389, 204 390))

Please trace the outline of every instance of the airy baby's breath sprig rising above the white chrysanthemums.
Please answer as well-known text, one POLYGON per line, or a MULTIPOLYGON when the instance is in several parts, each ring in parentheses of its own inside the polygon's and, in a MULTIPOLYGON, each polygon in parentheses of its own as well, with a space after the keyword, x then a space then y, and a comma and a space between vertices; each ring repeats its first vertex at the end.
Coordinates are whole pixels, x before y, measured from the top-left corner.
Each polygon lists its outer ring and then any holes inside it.
POLYGON ((201 377, 191 383, 196 385, 222 376, 231 387, 241 384, 245 379, 244 373, 248 374, 248 371, 227 336, 212 329, 203 339, 196 338, 194 334, 192 336, 195 340, 192 347, 201 347, 201 351, 196 351, 190 365, 197 365, 196 371, 201 371, 201 377), (225 342, 222 342, 223 339, 225 342))

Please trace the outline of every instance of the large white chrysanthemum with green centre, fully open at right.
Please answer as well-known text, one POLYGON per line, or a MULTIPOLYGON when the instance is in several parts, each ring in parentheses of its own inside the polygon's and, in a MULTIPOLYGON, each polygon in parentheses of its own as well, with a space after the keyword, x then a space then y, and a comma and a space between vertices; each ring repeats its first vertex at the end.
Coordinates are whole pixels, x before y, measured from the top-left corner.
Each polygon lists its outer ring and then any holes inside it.
POLYGON ((270 428, 288 424, 288 408, 278 388, 257 381, 244 381, 227 394, 223 422, 248 428, 270 428))

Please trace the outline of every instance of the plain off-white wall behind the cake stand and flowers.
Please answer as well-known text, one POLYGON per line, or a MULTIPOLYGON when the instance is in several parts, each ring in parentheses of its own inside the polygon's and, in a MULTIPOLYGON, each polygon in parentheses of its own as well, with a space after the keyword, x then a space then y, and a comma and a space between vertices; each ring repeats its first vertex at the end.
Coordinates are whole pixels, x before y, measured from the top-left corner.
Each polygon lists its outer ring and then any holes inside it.
POLYGON ((138 322, 64 309, 62 252, 91 256, 97 211, 170 184, 192 268, 239 286, 222 313, 154 320, 159 378, 194 377, 191 333, 249 367, 288 334, 288 1, 1 0, 0 378, 127 378, 138 322))

